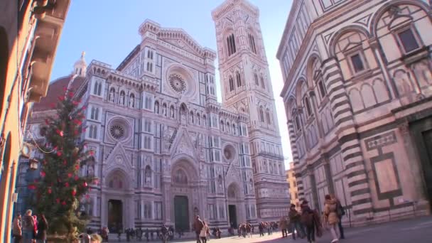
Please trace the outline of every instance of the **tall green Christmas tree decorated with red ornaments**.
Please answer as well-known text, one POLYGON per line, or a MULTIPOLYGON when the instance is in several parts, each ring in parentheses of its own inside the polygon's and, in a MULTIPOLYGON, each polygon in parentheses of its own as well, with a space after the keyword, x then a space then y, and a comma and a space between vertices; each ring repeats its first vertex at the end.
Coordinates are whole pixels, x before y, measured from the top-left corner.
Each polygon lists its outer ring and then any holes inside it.
POLYGON ((41 178, 28 188, 34 190, 33 209, 48 220, 48 232, 65 235, 71 241, 87 222, 78 209, 80 200, 88 197, 88 185, 94 178, 80 176, 80 168, 92 160, 93 151, 87 151, 80 141, 85 132, 85 107, 79 107, 80 100, 73 92, 65 89, 65 95, 52 105, 56 114, 45 119, 45 144, 39 146, 44 155, 39 160, 41 178))

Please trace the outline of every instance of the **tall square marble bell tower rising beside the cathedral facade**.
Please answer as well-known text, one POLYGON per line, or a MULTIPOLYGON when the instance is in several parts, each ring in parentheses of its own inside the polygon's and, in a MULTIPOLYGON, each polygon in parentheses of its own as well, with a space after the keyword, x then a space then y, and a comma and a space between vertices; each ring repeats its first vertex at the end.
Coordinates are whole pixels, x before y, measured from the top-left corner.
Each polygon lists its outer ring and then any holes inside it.
POLYGON ((249 115, 257 215, 273 220, 288 213, 289 199, 259 9, 247 0, 227 0, 212 11, 212 18, 222 105, 249 115))

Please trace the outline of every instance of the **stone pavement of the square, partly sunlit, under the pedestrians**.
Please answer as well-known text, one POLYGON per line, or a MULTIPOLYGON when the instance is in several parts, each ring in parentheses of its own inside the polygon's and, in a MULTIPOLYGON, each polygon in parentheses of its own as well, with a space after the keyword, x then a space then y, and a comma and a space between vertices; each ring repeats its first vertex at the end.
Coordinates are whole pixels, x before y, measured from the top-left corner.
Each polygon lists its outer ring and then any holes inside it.
MULTIPOLYGON (((255 234, 252 238, 211 239, 210 243, 307 242, 306 239, 294 241, 291 239, 291 235, 288 235, 286 239, 281 238, 281 236, 280 232, 265 237, 259 237, 258 234, 255 234)), ((346 228, 345 237, 347 239, 341 239, 340 243, 431 243, 432 217, 417 217, 416 219, 387 222, 380 225, 346 228)), ((324 232, 323 237, 317 238, 315 242, 328 243, 330 241, 330 232, 324 232)), ((172 242, 195 243, 195 240, 174 240, 172 242)))

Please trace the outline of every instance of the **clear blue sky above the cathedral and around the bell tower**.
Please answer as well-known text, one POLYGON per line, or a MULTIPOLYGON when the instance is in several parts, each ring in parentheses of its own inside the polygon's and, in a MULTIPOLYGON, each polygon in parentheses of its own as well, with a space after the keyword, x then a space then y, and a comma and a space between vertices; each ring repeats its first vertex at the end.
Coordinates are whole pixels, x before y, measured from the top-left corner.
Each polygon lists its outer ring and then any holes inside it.
MULTIPOLYGON (((276 51, 281 41, 292 0, 249 0, 260 11, 271 80, 279 119, 284 156, 292 159, 284 104, 283 86, 276 51)), ((215 24, 211 12, 222 0, 73 0, 58 46, 51 79, 70 74, 75 60, 86 52, 87 64, 100 60, 117 65, 140 43, 139 25, 149 18, 162 27, 183 28, 200 45, 216 50, 215 24)), ((216 67, 217 69, 217 67, 216 67)), ((219 80, 219 74, 216 74, 219 80)), ((220 96, 220 90, 218 90, 220 96)), ((287 161, 286 161, 287 162, 287 161)), ((288 164, 286 163, 286 168, 288 164)))

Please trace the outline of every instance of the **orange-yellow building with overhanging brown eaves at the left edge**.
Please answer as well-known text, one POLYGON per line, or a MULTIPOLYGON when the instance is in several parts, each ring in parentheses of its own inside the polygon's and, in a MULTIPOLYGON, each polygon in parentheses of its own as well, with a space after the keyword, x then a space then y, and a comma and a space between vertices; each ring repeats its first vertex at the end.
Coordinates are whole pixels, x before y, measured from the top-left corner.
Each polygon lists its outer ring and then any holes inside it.
POLYGON ((0 242, 10 242, 18 156, 33 102, 46 95, 70 0, 0 1, 0 242))

